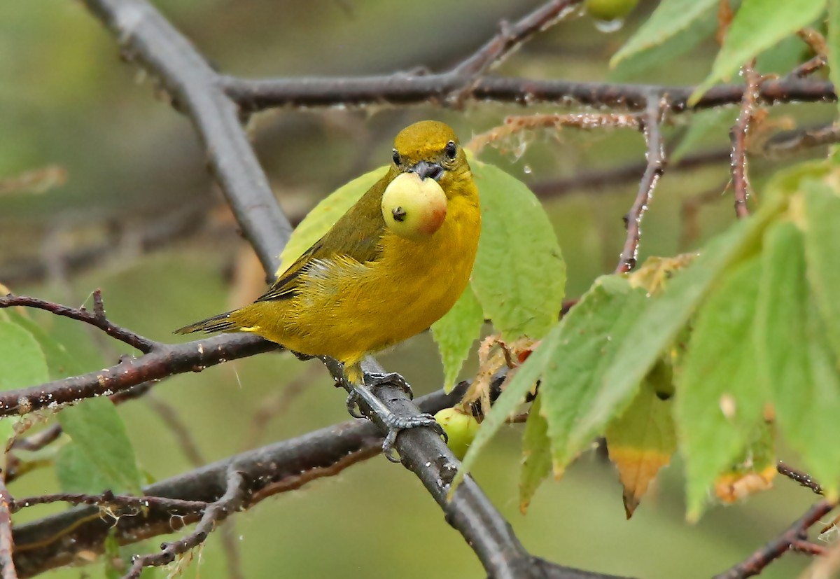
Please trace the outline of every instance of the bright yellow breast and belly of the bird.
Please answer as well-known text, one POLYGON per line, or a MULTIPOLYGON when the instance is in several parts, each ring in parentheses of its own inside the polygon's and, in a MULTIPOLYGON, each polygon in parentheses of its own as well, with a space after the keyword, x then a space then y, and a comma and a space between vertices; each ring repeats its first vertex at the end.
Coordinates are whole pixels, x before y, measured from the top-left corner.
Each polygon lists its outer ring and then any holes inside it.
POLYGON ((375 261, 314 261, 295 297, 244 308, 259 308, 249 312, 260 320, 250 331, 290 350, 352 364, 427 329, 470 280, 480 209, 475 186, 467 189, 449 198, 444 224, 428 239, 385 229, 375 261))

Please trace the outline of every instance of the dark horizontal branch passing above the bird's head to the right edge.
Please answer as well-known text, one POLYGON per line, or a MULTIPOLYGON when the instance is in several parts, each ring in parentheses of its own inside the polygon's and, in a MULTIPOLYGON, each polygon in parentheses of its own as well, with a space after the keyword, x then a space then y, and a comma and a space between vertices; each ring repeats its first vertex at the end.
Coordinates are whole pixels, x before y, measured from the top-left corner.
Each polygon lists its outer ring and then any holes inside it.
MULTIPOLYGON (((249 80, 220 76, 228 95, 247 111, 265 108, 407 106, 430 103, 451 106, 448 98, 470 82, 466 76, 441 73, 425 76, 396 74, 345 78, 268 78, 249 80)), ((688 98, 694 87, 572 82, 485 76, 465 95, 467 101, 564 107, 592 107, 643 111, 649 94, 666 97, 669 113, 686 113, 741 103, 743 85, 712 87, 693 108, 688 98)), ((760 104, 827 103, 837 100, 830 82, 785 79, 762 83, 760 104)))

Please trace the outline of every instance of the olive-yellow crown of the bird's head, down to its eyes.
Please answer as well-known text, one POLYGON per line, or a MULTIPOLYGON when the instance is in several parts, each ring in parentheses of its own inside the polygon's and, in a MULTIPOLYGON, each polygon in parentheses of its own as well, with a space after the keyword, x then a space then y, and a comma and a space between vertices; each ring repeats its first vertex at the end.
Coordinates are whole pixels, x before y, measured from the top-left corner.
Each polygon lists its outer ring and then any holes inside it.
POLYGON ((394 165, 407 168, 419 161, 438 163, 449 168, 459 157, 458 137, 449 125, 438 121, 420 121, 402 129, 394 139, 394 165))

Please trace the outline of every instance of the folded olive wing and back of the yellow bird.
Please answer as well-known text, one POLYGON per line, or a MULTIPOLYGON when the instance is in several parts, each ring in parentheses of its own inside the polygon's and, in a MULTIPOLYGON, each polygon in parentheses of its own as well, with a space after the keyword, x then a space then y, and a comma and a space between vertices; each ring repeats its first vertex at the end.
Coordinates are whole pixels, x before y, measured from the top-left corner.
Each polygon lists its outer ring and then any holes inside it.
POLYGON ((329 261, 337 256, 359 263, 376 261, 380 253, 380 239, 385 231, 381 209, 382 192, 391 179, 389 173, 370 187, 321 239, 283 271, 257 301, 288 299, 297 295, 300 276, 307 271, 307 266, 312 264, 312 261, 329 261))

